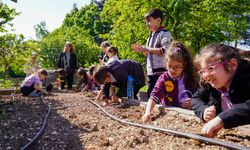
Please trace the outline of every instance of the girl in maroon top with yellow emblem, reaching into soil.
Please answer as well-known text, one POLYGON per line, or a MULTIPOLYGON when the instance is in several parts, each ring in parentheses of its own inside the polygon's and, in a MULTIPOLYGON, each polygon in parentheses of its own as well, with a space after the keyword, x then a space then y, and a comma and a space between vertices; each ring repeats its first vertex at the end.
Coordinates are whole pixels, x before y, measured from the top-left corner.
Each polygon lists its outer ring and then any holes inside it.
POLYGON ((181 42, 174 42, 166 52, 166 68, 150 94, 143 121, 151 121, 155 104, 191 107, 192 93, 198 88, 190 52, 181 42))

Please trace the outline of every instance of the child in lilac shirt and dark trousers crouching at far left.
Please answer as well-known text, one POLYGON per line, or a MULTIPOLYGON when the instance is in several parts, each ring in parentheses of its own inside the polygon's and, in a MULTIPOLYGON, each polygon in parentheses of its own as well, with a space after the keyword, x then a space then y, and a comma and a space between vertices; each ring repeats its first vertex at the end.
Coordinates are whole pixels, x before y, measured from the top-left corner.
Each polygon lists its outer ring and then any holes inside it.
POLYGON ((48 94, 46 90, 42 89, 42 80, 44 80, 47 75, 46 70, 40 69, 37 73, 26 77, 20 88, 23 96, 39 97, 42 94, 48 94))

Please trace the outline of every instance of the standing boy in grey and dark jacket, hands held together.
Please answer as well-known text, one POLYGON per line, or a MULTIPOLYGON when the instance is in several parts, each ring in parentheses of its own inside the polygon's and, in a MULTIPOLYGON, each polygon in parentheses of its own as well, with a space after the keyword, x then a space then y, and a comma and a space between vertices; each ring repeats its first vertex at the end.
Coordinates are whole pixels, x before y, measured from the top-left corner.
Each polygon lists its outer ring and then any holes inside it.
POLYGON ((160 9, 150 10, 145 15, 145 22, 150 30, 146 47, 132 45, 136 52, 142 52, 147 56, 148 96, 159 76, 166 71, 164 54, 173 41, 170 32, 161 25, 162 21, 163 13, 160 9))

